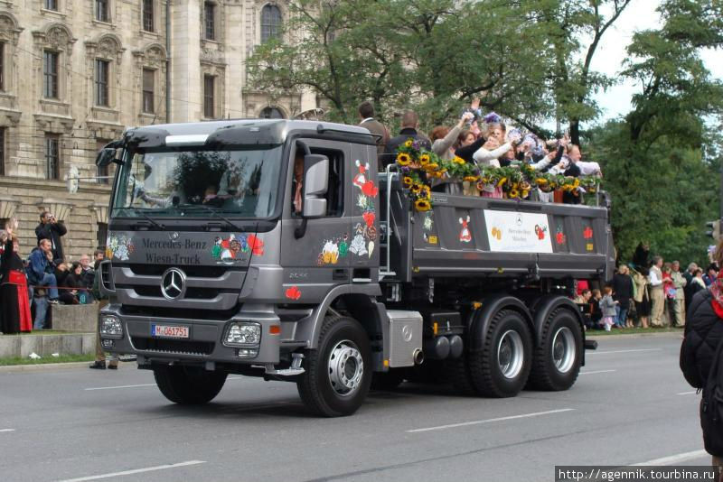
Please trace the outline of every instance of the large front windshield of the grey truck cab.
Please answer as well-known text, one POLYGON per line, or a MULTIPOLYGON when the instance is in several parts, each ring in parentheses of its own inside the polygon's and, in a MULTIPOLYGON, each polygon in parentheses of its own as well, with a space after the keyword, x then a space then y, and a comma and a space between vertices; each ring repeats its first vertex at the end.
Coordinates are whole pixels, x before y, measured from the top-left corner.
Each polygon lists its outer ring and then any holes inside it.
POLYGON ((114 217, 268 218, 277 202, 281 146, 229 151, 128 150, 114 217))

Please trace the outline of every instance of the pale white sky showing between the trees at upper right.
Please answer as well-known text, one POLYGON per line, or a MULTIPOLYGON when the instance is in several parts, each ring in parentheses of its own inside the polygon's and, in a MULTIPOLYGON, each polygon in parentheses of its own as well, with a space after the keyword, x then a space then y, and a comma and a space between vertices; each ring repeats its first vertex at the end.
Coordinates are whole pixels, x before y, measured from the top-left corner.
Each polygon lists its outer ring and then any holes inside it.
MULTIPOLYGON (((607 30, 598 45, 592 62, 593 70, 613 77, 623 70, 625 47, 632 42, 634 32, 659 27, 660 15, 655 12, 659 4, 659 0, 633 0, 620 18, 607 30)), ((702 58, 711 75, 723 79, 723 51, 705 51, 702 58)), ((605 92, 598 92, 595 98, 603 110, 598 122, 627 114, 632 108, 631 97, 638 91, 640 91, 639 85, 635 85, 631 79, 624 79, 605 92)))

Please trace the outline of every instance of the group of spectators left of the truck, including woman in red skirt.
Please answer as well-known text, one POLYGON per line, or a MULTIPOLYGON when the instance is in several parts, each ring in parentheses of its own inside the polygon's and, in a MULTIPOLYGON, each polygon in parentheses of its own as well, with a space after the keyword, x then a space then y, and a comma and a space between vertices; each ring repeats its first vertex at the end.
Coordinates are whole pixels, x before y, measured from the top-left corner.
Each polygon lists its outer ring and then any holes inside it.
POLYGON ((0 333, 50 328, 49 305, 94 301, 93 282, 104 252, 94 253, 94 264, 89 255, 67 261, 62 249, 67 228, 50 212, 43 212, 40 220, 37 245, 26 259, 21 256, 17 220, 11 219, 0 232, 0 333))

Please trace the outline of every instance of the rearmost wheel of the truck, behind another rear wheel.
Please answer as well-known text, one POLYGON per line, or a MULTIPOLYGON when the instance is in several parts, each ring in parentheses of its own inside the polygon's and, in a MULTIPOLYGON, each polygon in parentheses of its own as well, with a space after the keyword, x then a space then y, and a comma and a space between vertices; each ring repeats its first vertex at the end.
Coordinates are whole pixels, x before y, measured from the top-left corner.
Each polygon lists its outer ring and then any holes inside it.
POLYGON ((542 329, 528 386, 535 390, 567 390, 577 380, 582 357, 582 330, 575 315, 558 308, 542 329))

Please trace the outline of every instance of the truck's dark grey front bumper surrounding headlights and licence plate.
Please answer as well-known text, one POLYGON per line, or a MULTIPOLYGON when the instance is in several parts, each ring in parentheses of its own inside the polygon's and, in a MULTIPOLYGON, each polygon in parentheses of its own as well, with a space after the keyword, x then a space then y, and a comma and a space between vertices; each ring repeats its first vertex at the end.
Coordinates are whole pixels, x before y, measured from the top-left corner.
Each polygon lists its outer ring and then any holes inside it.
POLYGON ((241 365, 277 364, 280 353, 281 321, 270 306, 243 306, 229 320, 191 320, 179 318, 148 317, 123 314, 121 305, 111 304, 100 312, 100 317, 113 315, 120 320, 123 333, 120 338, 100 335, 105 351, 118 355, 136 355, 146 360, 220 362, 241 365), (248 348, 231 347, 223 343, 226 330, 232 322, 253 322, 261 326, 258 355, 248 354, 248 348), (158 338, 151 334, 152 325, 188 327, 188 338, 158 338), (246 349, 245 349, 246 348, 246 349))

